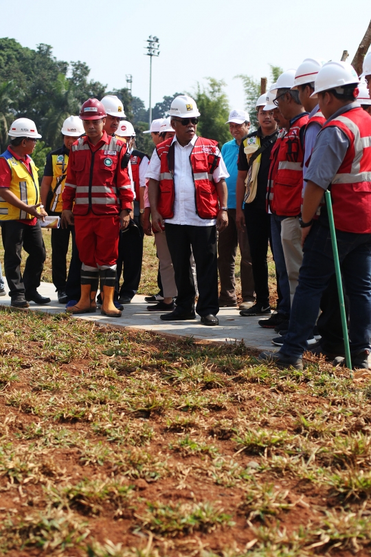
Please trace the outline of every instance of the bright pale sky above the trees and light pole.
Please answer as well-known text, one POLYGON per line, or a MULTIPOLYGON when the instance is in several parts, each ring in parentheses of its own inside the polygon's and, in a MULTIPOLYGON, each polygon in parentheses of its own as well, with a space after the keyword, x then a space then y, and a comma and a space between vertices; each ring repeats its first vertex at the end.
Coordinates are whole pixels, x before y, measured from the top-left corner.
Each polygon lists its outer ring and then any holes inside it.
POLYGON ((269 78, 269 64, 294 68, 304 58, 352 61, 371 18, 370 0, 0 0, 0 36, 54 56, 84 61, 90 77, 109 89, 126 87, 148 107, 149 35, 160 40, 153 59, 153 105, 164 95, 190 92, 207 76, 223 79, 231 108, 242 108, 234 76, 269 78), (354 6, 354 8, 352 8, 354 6), (18 13, 17 13, 18 12, 18 13))

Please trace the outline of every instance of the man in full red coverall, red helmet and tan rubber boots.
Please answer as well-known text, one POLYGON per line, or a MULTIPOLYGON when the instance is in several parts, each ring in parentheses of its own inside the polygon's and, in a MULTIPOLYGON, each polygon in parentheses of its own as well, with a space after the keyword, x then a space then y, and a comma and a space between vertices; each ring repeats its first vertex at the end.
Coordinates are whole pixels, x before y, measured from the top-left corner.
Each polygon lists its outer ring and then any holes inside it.
POLYGON ((101 313, 120 317, 113 304, 119 231, 128 226, 133 201, 124 164, 126 145, 104 131, 106 111, 99 100, 85 101, 80 118, 86 135, 71 147, 62 218, 75 225, 82 261, 81 298, 67 311, 95 312, 100 277, 101 313))

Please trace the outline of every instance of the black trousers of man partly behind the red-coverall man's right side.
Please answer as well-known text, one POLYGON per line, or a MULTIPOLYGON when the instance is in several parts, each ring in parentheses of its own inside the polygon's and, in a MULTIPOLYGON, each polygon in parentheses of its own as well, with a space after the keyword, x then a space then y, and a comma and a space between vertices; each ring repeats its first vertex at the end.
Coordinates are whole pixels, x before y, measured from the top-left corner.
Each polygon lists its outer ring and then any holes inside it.
POLYGON ((131 226, 125 232, 120 231, 119 256, 117 259, 117 280, 120 283, 121 274, 124 279, 120 287, 120 296, 133 298, 139 288, 142 274, 143 259, 143 228, 139 217, 133 221, 137 226, 131 226), (122 267, 124 272, 122 273, 122 267))

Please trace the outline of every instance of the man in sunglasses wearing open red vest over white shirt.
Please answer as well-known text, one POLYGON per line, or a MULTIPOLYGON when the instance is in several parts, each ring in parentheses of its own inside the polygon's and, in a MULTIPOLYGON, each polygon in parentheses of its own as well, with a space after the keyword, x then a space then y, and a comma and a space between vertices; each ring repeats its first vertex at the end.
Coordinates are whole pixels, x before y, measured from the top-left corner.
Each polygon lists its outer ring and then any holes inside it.
POLYGON ((175 272, 177 307, 161 315, 164 321, 194 319, 191 246, 196 262, 199 300, 196 311, 203 325, 218 325, 216 228, 227 226, 227 169, 217 142, 196 135, 200 113, 186 95, 171 103, 175 137, 160 143, 150 160, 148 197, 155 230, 166 230, 175 272))

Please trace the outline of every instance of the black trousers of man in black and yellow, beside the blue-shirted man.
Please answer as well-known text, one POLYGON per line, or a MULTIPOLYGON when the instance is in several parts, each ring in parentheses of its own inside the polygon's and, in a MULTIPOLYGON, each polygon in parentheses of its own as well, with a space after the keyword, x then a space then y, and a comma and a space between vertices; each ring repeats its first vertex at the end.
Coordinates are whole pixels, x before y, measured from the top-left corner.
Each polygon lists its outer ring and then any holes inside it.
POLYGON ((269 305, 268 242, 271 237, 271 216, 265 209, 245 204, 245 223, 249 238, 256 303, 269 305))

